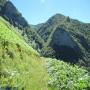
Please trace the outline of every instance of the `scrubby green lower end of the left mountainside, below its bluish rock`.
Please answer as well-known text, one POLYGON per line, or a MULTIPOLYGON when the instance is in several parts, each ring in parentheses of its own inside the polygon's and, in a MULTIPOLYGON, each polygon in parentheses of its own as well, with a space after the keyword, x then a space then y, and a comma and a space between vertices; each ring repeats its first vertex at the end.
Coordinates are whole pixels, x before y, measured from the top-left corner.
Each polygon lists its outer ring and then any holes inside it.
POLYGON ((22 30, 22 36, 25 38, 28 44, 30 44, 34 49, 40 52, 39 49, 43 47, 43 39, 34 31, 33 28, 28 26, 25 30, 22 30))

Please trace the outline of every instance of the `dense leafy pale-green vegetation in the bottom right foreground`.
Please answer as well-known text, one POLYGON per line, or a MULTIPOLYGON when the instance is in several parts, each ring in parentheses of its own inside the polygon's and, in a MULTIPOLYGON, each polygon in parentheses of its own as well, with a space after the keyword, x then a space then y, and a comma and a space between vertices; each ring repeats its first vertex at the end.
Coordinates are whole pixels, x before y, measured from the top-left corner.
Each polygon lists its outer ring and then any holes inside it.
POLYGON ((46 59, 50 75, 51 90, 90 90, 90 76, 87 70, 56 59, 46 59))

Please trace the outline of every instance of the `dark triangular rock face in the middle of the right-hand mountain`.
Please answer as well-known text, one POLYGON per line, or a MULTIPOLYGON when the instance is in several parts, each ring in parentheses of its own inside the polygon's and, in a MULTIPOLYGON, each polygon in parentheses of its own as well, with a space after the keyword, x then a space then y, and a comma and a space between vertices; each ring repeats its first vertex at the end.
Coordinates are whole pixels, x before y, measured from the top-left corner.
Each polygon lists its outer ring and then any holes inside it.
POLYGON ((80 48, 70 34, 63 28, 57 28, 52 36, 51 47, 56 58, 76 63, 80 58, 80 48))

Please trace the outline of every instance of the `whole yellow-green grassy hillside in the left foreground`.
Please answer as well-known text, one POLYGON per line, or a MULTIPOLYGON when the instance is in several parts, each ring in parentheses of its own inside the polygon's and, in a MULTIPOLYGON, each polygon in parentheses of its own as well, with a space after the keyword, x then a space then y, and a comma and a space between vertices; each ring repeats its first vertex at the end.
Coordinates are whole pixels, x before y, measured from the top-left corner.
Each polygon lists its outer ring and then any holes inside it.
POLYGON ((47 73, 39 54, 0 17, 0 87, 47 90, 47 73))

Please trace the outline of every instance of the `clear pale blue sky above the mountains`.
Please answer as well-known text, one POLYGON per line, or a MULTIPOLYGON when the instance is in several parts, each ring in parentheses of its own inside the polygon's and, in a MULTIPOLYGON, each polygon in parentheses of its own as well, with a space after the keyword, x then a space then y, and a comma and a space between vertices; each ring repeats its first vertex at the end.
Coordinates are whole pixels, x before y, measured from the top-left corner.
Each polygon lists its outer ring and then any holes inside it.
POLYGON ((46 22, 56 13, 90 23, 90 0, 11 0, 29 24, 46 22))

